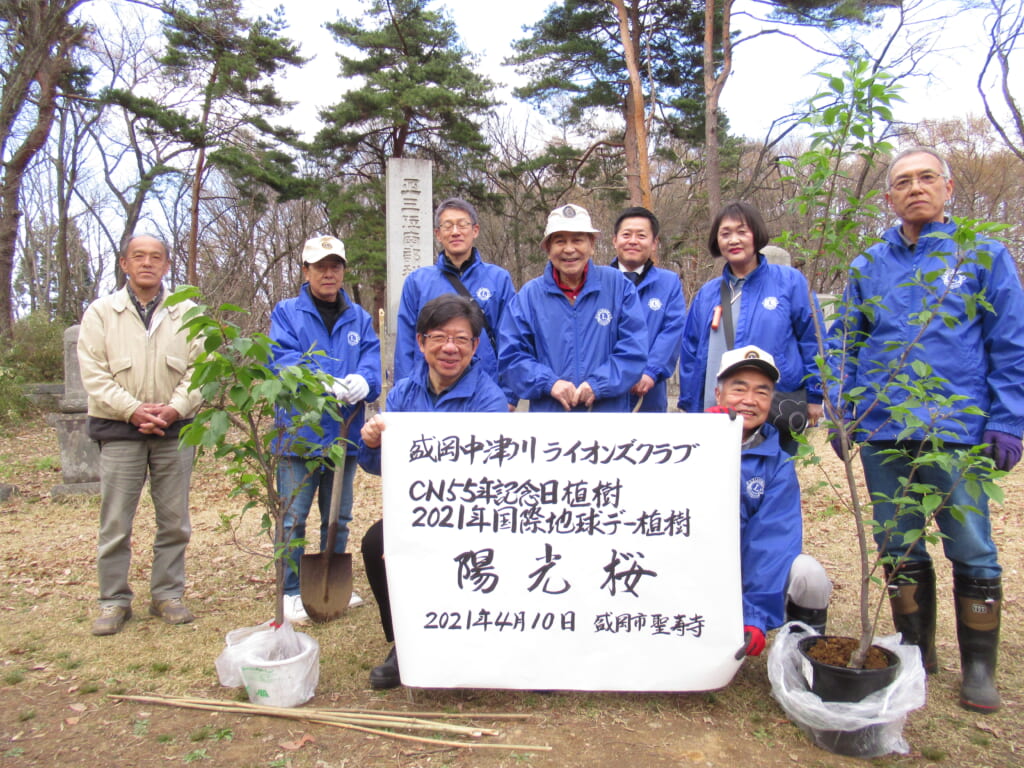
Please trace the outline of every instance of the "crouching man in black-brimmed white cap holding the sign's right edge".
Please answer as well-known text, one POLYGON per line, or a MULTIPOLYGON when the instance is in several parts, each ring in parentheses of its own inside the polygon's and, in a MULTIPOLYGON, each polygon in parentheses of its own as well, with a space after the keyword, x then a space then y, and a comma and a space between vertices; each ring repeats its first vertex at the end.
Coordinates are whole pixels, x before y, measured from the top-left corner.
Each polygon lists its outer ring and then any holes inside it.
POLYGON ((722 355, 716 413, 743 420, 739 486, 739 557, 746 655, 764 650, 765 633, 799 621, 824 632, 831 583, 803 548, 800 484, 791 457, 767 424, 778 381, 774 358, 756 346, 722 355))

